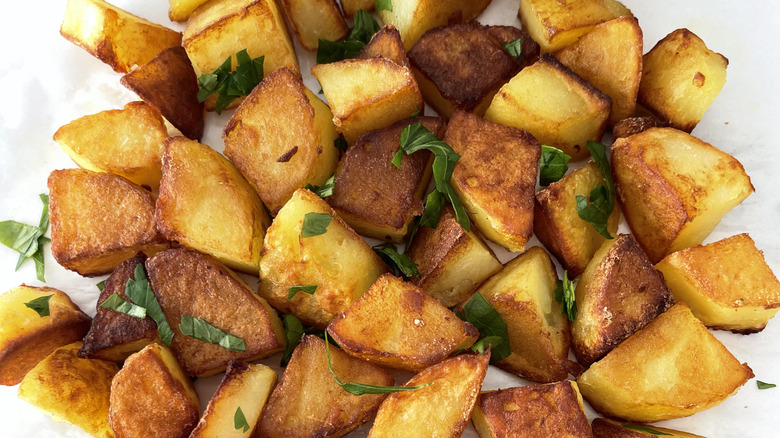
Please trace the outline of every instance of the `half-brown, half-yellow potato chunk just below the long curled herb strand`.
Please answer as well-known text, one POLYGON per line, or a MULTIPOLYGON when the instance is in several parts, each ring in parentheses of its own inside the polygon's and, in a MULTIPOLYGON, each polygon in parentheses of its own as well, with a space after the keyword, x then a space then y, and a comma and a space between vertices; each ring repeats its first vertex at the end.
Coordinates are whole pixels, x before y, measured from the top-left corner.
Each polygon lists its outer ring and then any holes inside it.
POLYGON ((420 227, 407 254, 420 272, 410 281, 445 307, 468 300, 480 283, 501 270, 493 251, 474 231, 460 226, 450 206, 436 228, 420 227))

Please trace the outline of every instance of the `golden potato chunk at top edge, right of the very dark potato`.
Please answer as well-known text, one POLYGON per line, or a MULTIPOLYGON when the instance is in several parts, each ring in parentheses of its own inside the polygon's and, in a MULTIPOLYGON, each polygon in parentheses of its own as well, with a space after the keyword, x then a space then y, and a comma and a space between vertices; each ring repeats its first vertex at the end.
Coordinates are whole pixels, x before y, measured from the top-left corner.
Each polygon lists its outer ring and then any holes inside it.
POLYGON ((547 53, 572 44, 599 23, 633 15, 617 0, 520 0, 517 16, 547 53))

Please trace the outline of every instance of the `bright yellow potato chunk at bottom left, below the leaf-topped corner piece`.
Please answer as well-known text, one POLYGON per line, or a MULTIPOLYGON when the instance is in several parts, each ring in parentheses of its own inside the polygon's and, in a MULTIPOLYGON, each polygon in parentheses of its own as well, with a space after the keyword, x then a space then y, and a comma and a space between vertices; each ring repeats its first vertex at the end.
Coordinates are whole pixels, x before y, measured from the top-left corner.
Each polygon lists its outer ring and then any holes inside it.
POLYGON ((19 398, 95 437, 113 438, 108 425, 115 363, 82 359, 80 342, 60 347, 38 363, 19 385, 19 398))

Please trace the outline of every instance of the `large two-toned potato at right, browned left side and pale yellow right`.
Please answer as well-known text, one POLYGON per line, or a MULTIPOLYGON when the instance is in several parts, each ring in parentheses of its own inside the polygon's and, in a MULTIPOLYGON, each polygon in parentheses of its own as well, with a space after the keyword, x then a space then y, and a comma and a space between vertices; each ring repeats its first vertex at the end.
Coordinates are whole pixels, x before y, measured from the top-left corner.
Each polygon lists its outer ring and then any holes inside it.
POLYGON ((701 243, 754 191, 734 157, 672 128, 618 139, 612 174, 626 222, 653 263, 701 243))

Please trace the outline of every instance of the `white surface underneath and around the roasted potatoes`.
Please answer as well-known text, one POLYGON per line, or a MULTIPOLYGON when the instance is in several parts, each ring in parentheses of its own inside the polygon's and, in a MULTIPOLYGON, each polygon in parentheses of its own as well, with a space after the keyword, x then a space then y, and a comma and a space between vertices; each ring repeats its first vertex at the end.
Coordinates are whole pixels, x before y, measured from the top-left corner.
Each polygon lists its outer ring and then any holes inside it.
MULTIPOLYGON (((780 272, 780 196, 776 143, 780 116, 780 41, 776 21, 780 3, 750 0, 625 0, 644 31, 645 52, 666 34, 687 27, 709 48, 729 58, 728 82, 693 134, 734 155, 751 176, 756 193, 725 216, 707 242, 748 232, 764 250, 772 269, 780 272)), ((166 26, 164 0, 116 0, 117 6, 166 26)), ((137 100, 119 84, 120 75, 59 35, 65 0, 0 0, 0 220, 37 224, 54 169, 75 167, 52 141, 54 132, 71 120, 121 108, 137 100)), ((483 23, 519 26, 517 0, 494 0, 479 18, 483 23)), ((313 91, 319 85, 308 75, 311 56, 298 48, 301 71, 313 91), (303 56, 302 56, 303 55, 303 56)), ((221 151, 222 127, 231 111, 207 116, 203 142, 221 151)), ((40 285, 32 261, 14 272, 16 253, 0 247, 0 292, 21 283, 40 285)), ((505 261, 506 256, 502 257, 505 261)), ((46 248, 46 279, 90 315, 102 278, 84 279, 61 268, 46 248)), ((2 323, 2 321, 0 321, 2 323)), ((780 383, 780 322, 750 336, 716 332, 729 350, 747 362, 758 379, 780 383)), ((267 361, 278 364, 278 357, 267 361)), ((197 382, 205 405, 219 378, 197 382)), ((491 367, 485 389, 515 386, 518 380, 491 367)), ((589 414, 593 414, 589 411, 589 414)), ((780 387, 759 391, 754 380, 723 404, 689 418, 659 423, 709 437, 780 436, 780 387)), ((365 436, 367 427, 353 436, 365 436)), ((16 398, 16 387, 0 387, 0 437, 81 437, 79 428, 54 422, 16 398)), ((471 428, 464 436, 474 437, 471 428)))

